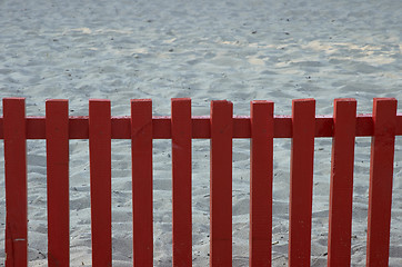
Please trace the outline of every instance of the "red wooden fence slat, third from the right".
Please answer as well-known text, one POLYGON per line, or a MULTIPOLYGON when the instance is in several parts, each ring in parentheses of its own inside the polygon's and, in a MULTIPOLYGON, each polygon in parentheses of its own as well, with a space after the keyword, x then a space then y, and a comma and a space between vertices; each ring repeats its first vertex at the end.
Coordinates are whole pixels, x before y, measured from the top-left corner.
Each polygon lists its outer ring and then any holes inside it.
POLYGON ((289 266, 310 266, 315 100, 292 101, 289 266))

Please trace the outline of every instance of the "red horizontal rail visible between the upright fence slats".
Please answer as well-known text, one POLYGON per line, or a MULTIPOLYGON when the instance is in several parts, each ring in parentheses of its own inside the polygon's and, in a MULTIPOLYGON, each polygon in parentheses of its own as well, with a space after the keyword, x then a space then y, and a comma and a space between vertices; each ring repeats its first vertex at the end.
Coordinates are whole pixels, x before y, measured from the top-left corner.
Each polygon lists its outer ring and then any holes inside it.
MULTIPOLYGON (((46 139, 46 117, 27 117, 27 139, 46 139)), ((210 117, 192 117, 192 138, 211 138, 210 117)), ((130 117, 112 117, 112 139, 131 139, 130 117)), ((292 137, 292 117, 275 116, 273 119, 273 137, 292 137)), ((152 138, 171 139, 171 118, 152 118, 152 138)), ((358 115, 356 129, 358 137, 373 136, 372 115, 358 115)), ((315 137, 333 136, 332 116, 315 117, 315 137)), ((396 115, 395 136, 402 136, 402 113, 396 115)), ((0 117, 0 139, 3 139, 3 118, 0 117)), ((89 138, 89 117, 69 117, 69 139, 89 138)), ((233 138, 250 138, 250 117, 233 117, 233 138)))

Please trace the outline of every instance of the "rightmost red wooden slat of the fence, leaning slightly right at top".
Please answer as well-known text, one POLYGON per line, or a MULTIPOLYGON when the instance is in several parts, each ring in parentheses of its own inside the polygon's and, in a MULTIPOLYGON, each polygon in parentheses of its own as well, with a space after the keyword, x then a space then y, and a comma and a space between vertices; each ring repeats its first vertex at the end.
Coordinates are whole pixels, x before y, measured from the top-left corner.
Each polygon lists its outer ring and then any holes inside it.
POLYGON ((374 98, 371 140, 366 266, 388 266, 396 100, 374 98))

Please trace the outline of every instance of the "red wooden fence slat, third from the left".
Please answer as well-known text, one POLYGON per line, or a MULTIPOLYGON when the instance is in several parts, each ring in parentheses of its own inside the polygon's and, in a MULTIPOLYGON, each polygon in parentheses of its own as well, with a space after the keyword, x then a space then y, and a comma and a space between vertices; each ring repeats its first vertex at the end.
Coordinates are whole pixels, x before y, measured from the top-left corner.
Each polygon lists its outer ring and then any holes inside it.
POLYGON ((89 101, 92 265, 112 265, 111 116, 109 100, 89 101))

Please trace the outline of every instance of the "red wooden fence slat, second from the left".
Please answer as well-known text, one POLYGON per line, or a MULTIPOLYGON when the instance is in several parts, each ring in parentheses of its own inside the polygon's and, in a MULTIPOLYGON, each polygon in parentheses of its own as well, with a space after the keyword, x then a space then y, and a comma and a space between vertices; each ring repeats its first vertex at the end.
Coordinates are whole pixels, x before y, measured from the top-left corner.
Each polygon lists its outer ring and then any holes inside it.
POLYGON ((70 265, 69 102, 46 101, 48 264, 70 265))

